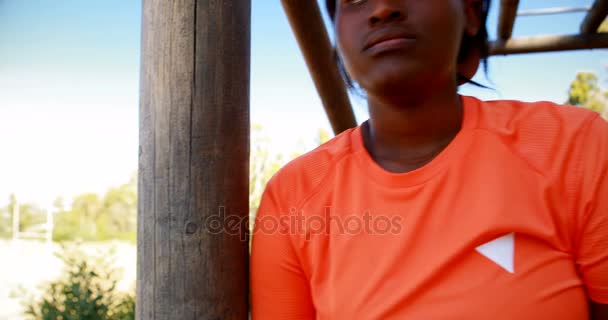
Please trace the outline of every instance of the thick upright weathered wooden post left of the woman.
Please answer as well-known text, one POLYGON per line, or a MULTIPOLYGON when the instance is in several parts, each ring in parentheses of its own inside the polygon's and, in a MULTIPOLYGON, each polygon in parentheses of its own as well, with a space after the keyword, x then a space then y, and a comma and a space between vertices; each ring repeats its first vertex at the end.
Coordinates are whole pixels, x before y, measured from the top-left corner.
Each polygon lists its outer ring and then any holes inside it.
POLYGON ((248 317, 250 21, 143 1, 137 319, 248 317))

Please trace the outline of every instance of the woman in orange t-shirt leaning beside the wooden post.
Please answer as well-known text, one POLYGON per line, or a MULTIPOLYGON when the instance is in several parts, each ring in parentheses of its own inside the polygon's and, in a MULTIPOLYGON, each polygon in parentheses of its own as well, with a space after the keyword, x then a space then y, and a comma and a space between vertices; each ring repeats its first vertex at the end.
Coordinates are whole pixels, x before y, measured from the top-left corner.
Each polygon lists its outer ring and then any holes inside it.
POLYGON ((608 124, 458 95, 488 7, 328 0, 370 119, 269 182, 254 320, 608 319, 608 124))

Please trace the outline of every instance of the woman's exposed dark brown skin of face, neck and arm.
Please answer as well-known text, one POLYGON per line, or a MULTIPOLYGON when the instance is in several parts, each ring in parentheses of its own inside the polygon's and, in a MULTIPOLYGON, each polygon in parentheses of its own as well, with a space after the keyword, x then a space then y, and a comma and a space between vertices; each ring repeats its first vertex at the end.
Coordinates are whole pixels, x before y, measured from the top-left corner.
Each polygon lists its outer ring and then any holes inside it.
MULTIPOLYGON (((367 94, 363 139, 384 169, 418 169, 460 131, 457 57, 480 15, 479 0, 336 0, 338 52, 367 94)), ((590 311, 608 320, 607 304, 590 301, 590 311)))

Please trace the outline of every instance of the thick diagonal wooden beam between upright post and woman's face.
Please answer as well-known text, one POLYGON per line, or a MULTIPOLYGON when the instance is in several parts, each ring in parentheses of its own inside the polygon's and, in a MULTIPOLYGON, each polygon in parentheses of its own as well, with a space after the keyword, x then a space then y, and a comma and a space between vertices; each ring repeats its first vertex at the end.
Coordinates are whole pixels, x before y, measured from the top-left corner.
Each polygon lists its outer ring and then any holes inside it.
POLYGON ((281 0, 335 134, 357 126, 317 1, 281 0))

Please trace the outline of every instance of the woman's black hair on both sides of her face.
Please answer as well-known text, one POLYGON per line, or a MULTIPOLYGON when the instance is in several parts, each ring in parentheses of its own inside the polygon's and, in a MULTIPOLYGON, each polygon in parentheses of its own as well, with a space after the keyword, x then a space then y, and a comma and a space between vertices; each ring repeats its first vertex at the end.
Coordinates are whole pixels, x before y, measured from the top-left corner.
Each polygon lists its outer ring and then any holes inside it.
MULTIPOLYGON (((486 26, 486 21, 488 20, 488 12, 490 10, 490 1, 491 0, 481 0, 480 5, 481 8, 481 28, 479 32, 477 32, 474 36, 469 36, 466 33, 462 37, 462 42, 460 44, 460 52, 458 53, 458 62, 464 61, 471 52, 476 49, 479 52, 481 63, 483 64, 484 73, 487 75, 488 73, 488 56, 489 56, 489 48, 488 48, 488 28, 486 26)), ((327 9, 327 13, 331 18, 331 21, 334 22, 334 18, 336 16, 336 0, 325 0, 325 7, 327 9)), ((346 83, 346 86, 353 90, 355 89, 355 82, 350 78, 348 73, 346 72, 346 68, 344 68, 344 64, 338 55, 338 51, 334 48, 334 59, 338 64, 338 70, 346 83)), ((472 85, 486 88, 488 87, 477 83, 470 78, 457 74, 458 82, 462 83, 470 83, 472 85)))

